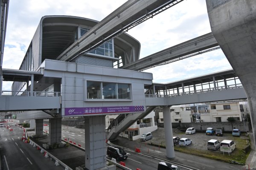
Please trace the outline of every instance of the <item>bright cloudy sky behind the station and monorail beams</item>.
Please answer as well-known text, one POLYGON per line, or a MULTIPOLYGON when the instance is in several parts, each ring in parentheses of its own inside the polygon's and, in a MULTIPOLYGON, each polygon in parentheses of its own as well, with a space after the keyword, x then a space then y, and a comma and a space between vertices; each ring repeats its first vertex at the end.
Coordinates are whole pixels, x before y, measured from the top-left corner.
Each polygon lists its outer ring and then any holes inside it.
MULTIPOLYGON (((3 68, 19 69, 45 15, 71 15, 101 21, 126 0, 10 0, 3 68)), ((205 0, 183 0, 127 33, 141 44, 140 58, 211 32, 205 0)), ((167 83, 231 69, 221 49, 145 70, 153 82, 167 83)), ((3 91, 12 82, 3 82, 3 91)))

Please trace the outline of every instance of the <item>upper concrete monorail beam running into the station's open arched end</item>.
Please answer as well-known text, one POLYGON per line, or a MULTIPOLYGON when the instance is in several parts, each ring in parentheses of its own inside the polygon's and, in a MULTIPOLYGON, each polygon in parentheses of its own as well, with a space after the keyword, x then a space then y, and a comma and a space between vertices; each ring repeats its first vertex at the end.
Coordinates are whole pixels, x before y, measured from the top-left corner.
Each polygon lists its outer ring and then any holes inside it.
POLYGON ((128 0, 105 17, 56 59, 71 61, 143 23, 183 0, 128 0))

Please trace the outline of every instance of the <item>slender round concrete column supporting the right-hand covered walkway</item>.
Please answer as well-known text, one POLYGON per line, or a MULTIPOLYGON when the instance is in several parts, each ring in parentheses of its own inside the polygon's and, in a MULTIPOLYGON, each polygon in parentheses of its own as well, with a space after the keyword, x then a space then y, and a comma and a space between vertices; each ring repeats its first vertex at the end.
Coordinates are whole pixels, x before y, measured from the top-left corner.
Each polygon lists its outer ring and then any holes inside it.
POLYGON ((163 125, 164 125, 164 133, 166 139, 166 157, 174 158, 174 145, 172 138, 172 116, 170 107, 163 107, 163 125))

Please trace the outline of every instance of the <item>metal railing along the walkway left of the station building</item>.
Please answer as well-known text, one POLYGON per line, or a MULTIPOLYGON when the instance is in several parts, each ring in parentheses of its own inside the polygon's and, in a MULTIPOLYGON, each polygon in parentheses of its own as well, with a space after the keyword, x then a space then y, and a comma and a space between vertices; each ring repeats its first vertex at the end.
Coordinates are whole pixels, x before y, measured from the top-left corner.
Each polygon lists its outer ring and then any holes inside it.
POLYGON ((2 96, 61 96, 61 92, 3 91, 2 96))

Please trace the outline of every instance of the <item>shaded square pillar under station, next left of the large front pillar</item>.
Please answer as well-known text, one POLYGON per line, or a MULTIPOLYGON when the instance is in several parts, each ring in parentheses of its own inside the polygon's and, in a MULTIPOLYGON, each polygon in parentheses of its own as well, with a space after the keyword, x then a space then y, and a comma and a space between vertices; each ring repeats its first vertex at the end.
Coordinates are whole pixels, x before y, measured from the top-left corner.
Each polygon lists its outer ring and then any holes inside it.
POLYGON ((61 118, 49 119, 49 145, 61 143, 61 118))

